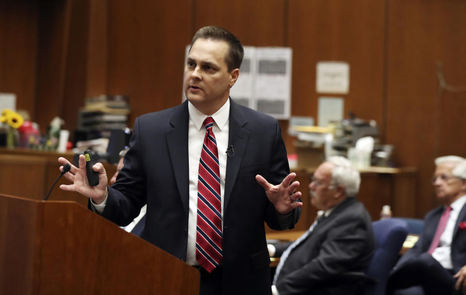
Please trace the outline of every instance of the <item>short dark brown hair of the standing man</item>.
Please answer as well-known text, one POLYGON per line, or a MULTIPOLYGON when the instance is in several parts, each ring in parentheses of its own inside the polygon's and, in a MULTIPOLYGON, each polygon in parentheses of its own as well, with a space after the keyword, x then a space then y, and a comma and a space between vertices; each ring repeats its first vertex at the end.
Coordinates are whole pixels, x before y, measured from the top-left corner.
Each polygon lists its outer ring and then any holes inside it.
POLYGON ((239 68, 241 66, 241 63, 243 62, 244 49, 241 45, 241 42, 239 42, 239 39, 236 38, 232 33, 216 26, 200 28, 199 31, 194 34, 189 51, 191 51, 191 48, 197 39, 227 42, 230 47, 227 56, 225 56, 225 62, 228 65, 228 71, 231 72, 235 68, 239 68))

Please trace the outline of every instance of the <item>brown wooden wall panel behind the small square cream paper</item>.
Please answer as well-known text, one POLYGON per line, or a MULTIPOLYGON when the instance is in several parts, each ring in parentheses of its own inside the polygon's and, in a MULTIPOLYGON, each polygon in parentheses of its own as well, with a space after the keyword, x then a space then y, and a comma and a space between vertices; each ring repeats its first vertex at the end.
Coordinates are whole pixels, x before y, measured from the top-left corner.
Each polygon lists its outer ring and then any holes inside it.
POLYGON ((345 99, 345 116, 383 124, 384 2, 307 1, 288 4, 287 46, 293 49, 292 115, 317 122, 319 97, 345 99), (350 65, 348 95, 316 93, 316 63, 350 65))

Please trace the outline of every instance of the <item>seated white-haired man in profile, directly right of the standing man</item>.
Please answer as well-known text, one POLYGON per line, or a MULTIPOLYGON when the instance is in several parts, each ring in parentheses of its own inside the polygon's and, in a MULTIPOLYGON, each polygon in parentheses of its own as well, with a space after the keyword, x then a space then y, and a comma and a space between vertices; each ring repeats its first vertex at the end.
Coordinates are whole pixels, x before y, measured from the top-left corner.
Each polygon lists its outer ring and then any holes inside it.
POLYGON ((359 282, 340 275, 364 272, 375 248, 370 216, 354 197, 360 181, 359 172, 343 157, 331 157, 317 168, 309 185, 311 203, 324 213, 283 252, 274 295, 357 292, 359 282))

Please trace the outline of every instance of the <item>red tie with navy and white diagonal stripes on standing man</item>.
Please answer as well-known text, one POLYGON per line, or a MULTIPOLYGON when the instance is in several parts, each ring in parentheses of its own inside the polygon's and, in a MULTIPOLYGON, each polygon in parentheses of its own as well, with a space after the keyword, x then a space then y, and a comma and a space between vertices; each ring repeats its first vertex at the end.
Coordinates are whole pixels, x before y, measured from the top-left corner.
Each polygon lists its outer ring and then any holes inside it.
POLYGON ((223 257, 220 168, 212 127, 214 119, 204 120, 205 137, 200 153, 198 176, 198 218, 196 260, 208 272, 214 270, 223 257))

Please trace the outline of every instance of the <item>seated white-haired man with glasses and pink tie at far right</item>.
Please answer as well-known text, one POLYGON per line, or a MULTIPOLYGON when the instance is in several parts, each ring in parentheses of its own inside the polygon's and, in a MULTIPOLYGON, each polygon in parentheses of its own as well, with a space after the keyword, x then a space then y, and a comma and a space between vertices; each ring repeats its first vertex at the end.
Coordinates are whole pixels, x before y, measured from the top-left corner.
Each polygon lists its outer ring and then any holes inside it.
POLYGON ((442 206, 426 214, 419 240, 390 275, 388 294, 466 294, 466 159, 445 156, 435 165, 432 184, 442 206))

